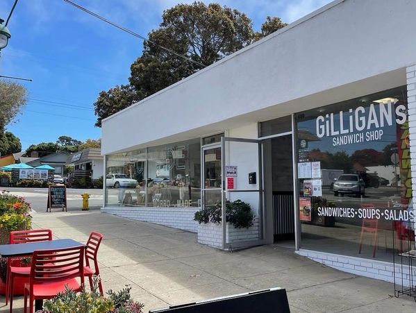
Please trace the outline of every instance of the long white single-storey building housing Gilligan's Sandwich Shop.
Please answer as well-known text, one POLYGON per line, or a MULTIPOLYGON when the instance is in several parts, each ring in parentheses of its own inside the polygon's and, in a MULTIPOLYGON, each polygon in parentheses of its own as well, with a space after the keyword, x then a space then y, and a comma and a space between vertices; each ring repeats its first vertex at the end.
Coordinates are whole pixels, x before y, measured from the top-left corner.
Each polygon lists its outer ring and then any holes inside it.
POLYGON ((333 1, 104 119, 106 174, 139 185, 105 188, 103 212, 394 280, 394 249, 414 248, 415 12, 416 1, 333 1), (397 168, 398 182, 367 167, 397 168), (324 172, 344 176, 322 187, 324 172), (236 199, 256 214, 249 230, 193 221, 236 199))

